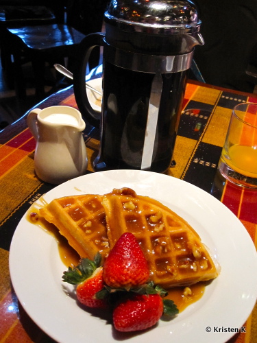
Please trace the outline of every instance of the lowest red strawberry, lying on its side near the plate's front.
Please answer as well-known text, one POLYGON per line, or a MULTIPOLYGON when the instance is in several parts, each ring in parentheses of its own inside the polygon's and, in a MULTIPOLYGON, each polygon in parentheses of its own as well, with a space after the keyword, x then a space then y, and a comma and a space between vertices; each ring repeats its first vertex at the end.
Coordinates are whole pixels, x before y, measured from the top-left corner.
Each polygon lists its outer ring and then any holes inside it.
POLYGON ((118 331, 138 331, 152 327, 163 312, 159 294, 133 294, 113 311, 113 323, 118 331))

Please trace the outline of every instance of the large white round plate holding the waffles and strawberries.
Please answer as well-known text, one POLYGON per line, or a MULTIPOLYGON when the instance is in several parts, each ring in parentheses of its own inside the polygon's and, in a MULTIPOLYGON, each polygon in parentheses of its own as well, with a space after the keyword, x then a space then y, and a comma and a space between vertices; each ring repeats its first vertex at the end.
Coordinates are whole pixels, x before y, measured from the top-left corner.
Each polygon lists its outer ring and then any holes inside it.
MULTIPOLYGON (((10 274, 27 314, 53 339, 62 343, 217 343, 240 329, 257 297, 256 249, 241 222, 217 199, 201 189, 149 171, 103 171, 75 178, 44 195, 53 198, 80 193, 107 193, 130 187, 151 196, 184 217, 221 265, 221 274, 204 296, 174 320, 138 335, 117 334, 112 324, 79 307, 62 283, 66 270, 55 239, 24 216, 10 249, 10 274), (210 331, 210 332, 207 332, 210 331), (215 332, 220 331, 220 332, 215 332)), ((40 202, 40 200, 38 200, 40 202)), ((73 286, 69 287, 72 293, 73 286)))

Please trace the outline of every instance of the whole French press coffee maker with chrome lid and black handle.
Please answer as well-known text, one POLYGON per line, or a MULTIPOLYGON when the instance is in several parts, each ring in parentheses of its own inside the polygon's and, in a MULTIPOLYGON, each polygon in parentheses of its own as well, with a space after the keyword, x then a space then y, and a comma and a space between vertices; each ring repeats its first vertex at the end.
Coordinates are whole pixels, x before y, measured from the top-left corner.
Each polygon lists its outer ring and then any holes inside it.
POLYGON ((167 171, 171 165, 195 45, 203 45, 195 5, 185 0, 112 0, 106 33, 79 46, 74 93, 82 115, 101 128, 95 170, 167 171), (90 106, 85 73, 103 47, 101 115, 90 106))

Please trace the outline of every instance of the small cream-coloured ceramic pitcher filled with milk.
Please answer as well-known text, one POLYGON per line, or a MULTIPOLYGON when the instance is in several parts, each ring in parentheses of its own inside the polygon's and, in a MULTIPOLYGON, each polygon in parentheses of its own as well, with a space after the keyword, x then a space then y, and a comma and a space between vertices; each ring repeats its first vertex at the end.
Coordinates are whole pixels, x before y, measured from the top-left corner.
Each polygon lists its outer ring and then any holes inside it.
POLYGON ((36 139, 34 168, 38 178, 59 185, 84 174, 88 158, 82 131, 86 123, 78 110, 69 106, 35 108, 27 125, 36 139))

